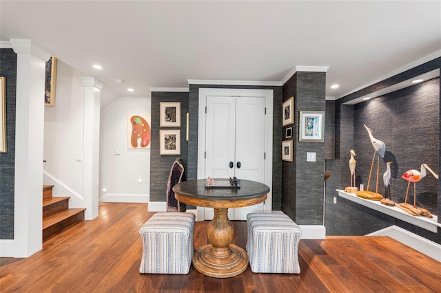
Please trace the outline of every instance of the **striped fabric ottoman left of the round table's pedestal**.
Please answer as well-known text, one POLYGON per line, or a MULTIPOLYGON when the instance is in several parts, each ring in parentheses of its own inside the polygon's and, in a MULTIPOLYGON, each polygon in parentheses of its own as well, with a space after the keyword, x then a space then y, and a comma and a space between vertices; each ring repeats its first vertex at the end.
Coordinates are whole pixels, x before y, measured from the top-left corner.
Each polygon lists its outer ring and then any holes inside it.
POLYGON ((155 213, 139 229, 141 274, 188 274, 193 256, 194 214, 155 213))

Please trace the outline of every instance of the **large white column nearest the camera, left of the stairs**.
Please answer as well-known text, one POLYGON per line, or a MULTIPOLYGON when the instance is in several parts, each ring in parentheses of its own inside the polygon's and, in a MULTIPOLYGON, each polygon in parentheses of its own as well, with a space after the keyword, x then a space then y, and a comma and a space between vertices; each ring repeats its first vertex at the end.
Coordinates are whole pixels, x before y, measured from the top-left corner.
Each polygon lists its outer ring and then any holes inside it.
POLYGON ((30 40, 10 40, 17 53, 14 257, 42 248, 45 62, 50 53, 30 40))

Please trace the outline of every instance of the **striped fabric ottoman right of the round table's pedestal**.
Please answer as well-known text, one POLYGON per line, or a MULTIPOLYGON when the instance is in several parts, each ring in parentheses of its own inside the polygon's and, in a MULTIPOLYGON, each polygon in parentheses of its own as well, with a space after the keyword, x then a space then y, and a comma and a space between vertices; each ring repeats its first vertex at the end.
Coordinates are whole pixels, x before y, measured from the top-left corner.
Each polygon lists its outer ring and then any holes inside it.
POLYGON ((252 272, 300 274, 302 230, 282 212, 247 215, 247 252, 252 272))

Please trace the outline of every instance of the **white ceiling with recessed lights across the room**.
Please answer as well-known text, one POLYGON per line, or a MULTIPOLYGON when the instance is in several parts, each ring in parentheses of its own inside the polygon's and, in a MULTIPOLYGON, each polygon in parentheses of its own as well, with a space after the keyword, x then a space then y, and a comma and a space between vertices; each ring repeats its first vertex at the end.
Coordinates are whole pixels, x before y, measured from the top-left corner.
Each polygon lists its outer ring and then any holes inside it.
POLYGON ((329 67, 332 99, 441 56, 441 1, 0 0, 9 39, 98 78, 107 102, 188 80, 281 84, 296 66, 329 67))

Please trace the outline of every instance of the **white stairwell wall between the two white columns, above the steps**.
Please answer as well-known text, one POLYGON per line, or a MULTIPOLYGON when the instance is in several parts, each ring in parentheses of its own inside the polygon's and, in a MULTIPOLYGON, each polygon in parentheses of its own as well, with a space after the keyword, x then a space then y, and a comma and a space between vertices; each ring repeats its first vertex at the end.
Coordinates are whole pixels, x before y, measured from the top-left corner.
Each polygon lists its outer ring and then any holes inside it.
POLYGON ((80 72, 59 60, 55 107, 45 107, 44 113, 43 183, 55 185, 55 196, 70 196, 71 208, 83 206, 84 87, 81 77, 80 72))

